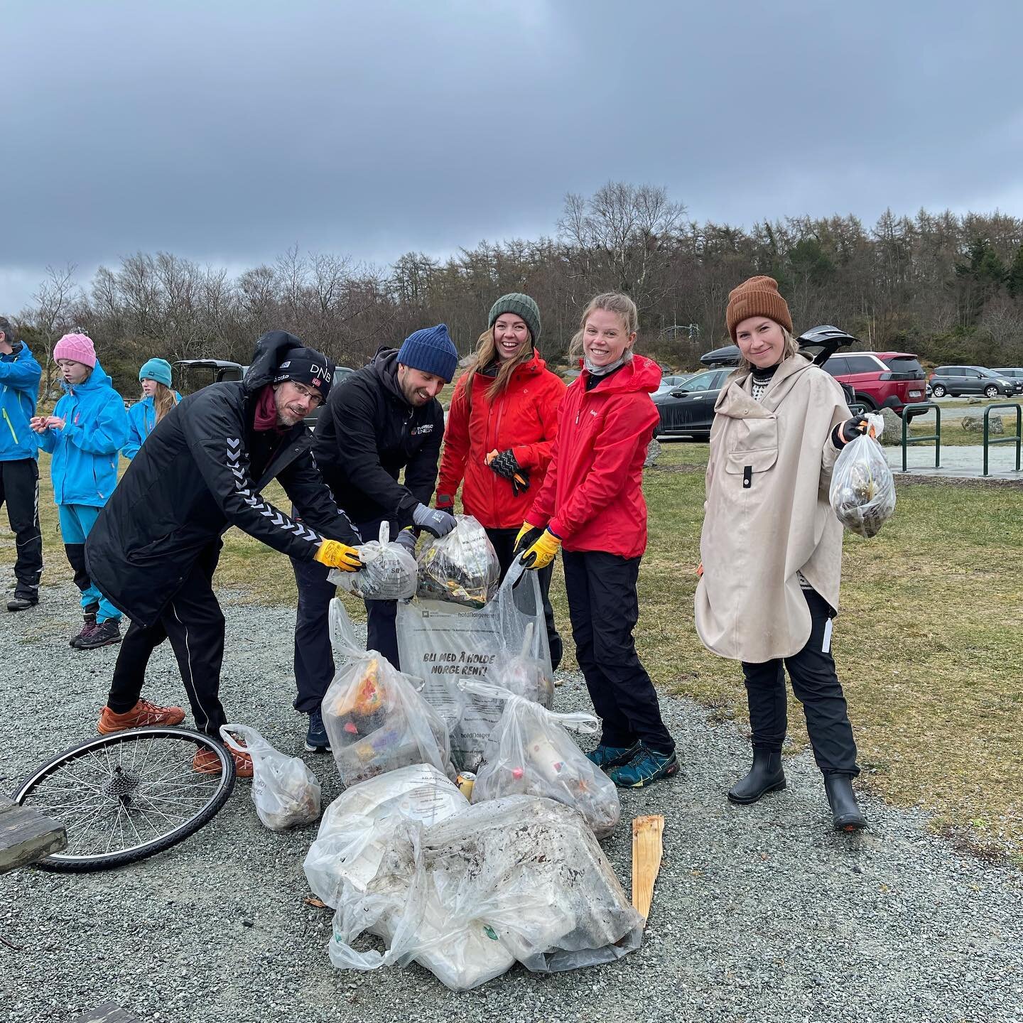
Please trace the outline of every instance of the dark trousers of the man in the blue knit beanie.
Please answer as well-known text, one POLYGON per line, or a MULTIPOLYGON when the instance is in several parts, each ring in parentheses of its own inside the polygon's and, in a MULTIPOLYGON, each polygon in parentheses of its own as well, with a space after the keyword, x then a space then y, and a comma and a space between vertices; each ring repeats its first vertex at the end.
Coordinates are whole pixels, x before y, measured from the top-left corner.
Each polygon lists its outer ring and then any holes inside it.
MULTIPOLYGON (((359 523, 359 536, 375 540, 381 520, 359 523)), ((299 695, 295 709, 303 714, 316 710, 333 679, 333 652, 330 650, 330 598, 337 587, 327 581, 329 569, 319 562, 292 559, 299 607, 295 616, 295 684, 299 695)), ((380 651, 396 668, 398 658, 397 601, 365 601, 366 649, 380 651)))

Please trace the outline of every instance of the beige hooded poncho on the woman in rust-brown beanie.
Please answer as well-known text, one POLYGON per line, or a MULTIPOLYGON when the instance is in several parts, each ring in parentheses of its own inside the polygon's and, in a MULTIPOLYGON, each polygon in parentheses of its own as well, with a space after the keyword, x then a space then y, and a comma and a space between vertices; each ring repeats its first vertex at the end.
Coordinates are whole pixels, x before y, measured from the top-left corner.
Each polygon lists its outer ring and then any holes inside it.
POLYGON ((714 406, 696 627, 708 650, 758 664, 809 638, 798 573, 838 610, 831 434, 851 413, 837 381, 803 355, 777 367, 760 401, 751 386, 749 372, 732 374, 714 406))

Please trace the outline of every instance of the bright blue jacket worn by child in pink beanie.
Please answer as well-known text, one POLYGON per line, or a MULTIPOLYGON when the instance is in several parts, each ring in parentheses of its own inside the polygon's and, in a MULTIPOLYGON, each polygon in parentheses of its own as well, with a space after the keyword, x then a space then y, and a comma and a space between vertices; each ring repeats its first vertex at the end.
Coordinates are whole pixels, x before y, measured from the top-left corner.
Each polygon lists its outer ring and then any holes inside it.
POLYGON ((39 435, 39 446, 53 455, 53 500, 102 507, 117 486, 118 451, 128 440, 124 399, 98 362, 84 384, 60 386, 65 393, 53 414, 64 428, 39 435))

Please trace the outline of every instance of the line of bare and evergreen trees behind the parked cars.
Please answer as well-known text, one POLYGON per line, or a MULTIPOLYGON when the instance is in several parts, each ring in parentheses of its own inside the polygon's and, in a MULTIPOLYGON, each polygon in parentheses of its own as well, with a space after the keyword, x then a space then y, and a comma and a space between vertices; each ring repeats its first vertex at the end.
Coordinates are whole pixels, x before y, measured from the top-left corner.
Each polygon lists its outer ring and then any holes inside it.
POLYGON ((684 369, 727 342, 728 292, 758 273, 779 280, 797 330, 834 323, 863 349, 911 351, 936 363, 1023 364, 1019 218, 886 211, 871 227, 847 215, 744 229, 699 224, 665 189, 625 182, 566 196, 550 236, 481 241, 447 260, 406 253, 376 267, 292 249, 231 277, 169 253, 137 253, 101 266, 87 290, 73 266, 51 267, 18 325, 46 356, 46 386, 53 344, 78 327, 129 394, 147 358, 247 362, 255 339, 275 327, 359 366, 382 345, 443 321, 468 354, 491 303, 507 292, 536 299, 540 347, 557 363, 589 298, 618 290, 639 307, 639 350, 684 369))

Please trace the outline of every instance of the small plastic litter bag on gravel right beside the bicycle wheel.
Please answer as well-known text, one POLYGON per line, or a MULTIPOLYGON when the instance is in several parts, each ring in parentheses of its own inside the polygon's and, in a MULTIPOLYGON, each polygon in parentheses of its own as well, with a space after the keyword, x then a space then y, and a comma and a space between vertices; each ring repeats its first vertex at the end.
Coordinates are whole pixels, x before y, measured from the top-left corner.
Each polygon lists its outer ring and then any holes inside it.
POLYGON ((224 745, 253 758, 252 797, 256 813, 270 831, 312 824, 319 816, 320 786, 301 757, 275 750, 255 728, 222 724, 224 745), (244 746, 235 736, 244 740, 244 746))

